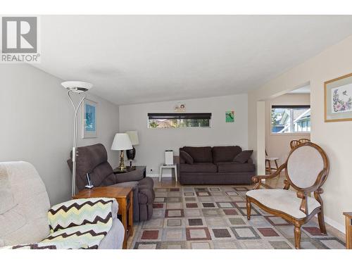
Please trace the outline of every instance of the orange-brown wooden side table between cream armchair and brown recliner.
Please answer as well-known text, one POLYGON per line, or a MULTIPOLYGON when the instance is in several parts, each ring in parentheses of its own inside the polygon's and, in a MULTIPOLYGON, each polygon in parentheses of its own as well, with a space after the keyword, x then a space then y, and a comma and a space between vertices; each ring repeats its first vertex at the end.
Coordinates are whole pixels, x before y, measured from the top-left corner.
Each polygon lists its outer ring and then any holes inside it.
POLYGON ((132 187, 94 187, 84 189, 73 196, 73 199, 81 198, 115 198, 118 201, 118 215, 125 227, 125 238, 122 249, 127 249, 127 240, 133 234, 133 191, 132 187))

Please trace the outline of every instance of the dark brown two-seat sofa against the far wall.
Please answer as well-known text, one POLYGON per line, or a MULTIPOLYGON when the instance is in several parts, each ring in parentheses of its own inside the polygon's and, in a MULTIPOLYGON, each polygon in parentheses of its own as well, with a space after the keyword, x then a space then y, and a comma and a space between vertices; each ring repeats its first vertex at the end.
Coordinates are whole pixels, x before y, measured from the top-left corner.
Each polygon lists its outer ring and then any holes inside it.
POLYGON ((240 146, 184 146, 180 148, 193 158, 193 164, 180 154, 181 184, 251 184, 256 166, 251 158, 244 163, 234 161, 240 146))

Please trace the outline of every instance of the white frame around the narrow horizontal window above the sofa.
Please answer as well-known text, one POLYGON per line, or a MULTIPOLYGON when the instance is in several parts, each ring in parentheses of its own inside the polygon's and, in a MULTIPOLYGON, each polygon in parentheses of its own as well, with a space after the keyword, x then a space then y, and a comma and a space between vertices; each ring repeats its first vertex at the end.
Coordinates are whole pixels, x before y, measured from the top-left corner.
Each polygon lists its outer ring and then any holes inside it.
POLYGON ((211 128, 212 127, 212 118, 213 115, 212 113, 147 113, 146 115, 146 127, 148 129, 199 129, 199 128, 211 128), (208 119, 209 120, 209 126, 208 127, 150 127, 149 126, 149 120, 151 119, 157 119, 157 118, 150 118, 150 116, 155 116, 158 117, 160 116, 160 119, 208 119), (188 118, 184 118, 188 117, 188 118), (191 118, 191 117, 196 117, 196 118, 191 118))

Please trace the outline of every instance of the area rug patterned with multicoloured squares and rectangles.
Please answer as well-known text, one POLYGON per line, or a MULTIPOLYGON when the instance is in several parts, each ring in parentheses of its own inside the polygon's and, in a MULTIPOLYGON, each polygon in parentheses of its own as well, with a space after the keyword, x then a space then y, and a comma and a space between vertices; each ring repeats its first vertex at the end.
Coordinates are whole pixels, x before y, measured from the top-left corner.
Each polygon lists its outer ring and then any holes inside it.
MULTIPOLYGON (((294 226, 252 204, 248 186, 156 188, 153 218, 135 226, 131 249, 294 249, 294 226)), ((345 249, 312 220, 302 228, 302 249, 345 249)))

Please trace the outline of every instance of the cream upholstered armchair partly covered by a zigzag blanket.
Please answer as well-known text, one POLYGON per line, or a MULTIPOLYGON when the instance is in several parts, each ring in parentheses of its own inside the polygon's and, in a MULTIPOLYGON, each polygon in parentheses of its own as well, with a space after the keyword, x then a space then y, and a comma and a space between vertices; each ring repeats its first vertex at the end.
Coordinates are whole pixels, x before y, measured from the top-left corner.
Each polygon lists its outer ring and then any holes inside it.
MULTIPOLYGON (((96 203, 90 199, 75 200, 75 203, 96 203)), ((116 217, 118 211, 118 203, 110 201, 110 207, 106 210, 110 215, 108 232, 104 233, 99 240, 99 249, 121 249, 125 230, 122 223, 116 217), (111 210, 111 211, 110 211, 111 210)), ((59 206, 71 206, 73 201, 62 203, 59 206)), ((49 197, 42 179, 39 177, 37 170, 30 163, 23 161, 0 163, 0 247, 11 245, 35 244, 44 245, 53 234, 53 230, 49 229, 48 211, 50 208, 49 197)), ((55 206, 53 207, 56 208, 55 206)), ((51 210, 53 210, 53 208, 51 210)), ((87 212, 84 212, 85 214, 87 212)), ((83 223, 92 223, 91 220, 84 217, 84 213, 80 220, 83 223)), ((58 218, 53 218, 57 220, 58 218)), ((71 218, 70 218, 71 219, 71 218)), ((58 219, 58 225, 63 225, 63 220, 58 219), (61 222, 58 222, 61 221, 61 222)), ((71 225, 64 222, 66 232, 74 232, 80 229, 77 225, 71 225)), ((83 230, 89 230, 88 225, 81 225, 83 230)), ((54 230, 62 232, 61 230, 54 230)), ((80 229, 80 232, 82 230, 80 229)), ((60 248, 77 249, 82 246, 80 239, 60 238, 60 248)), ((85 243, 85 242, 84 242, 85 243)), ((30 246, 30 248, 40 248, 40 246, 30 246)))

